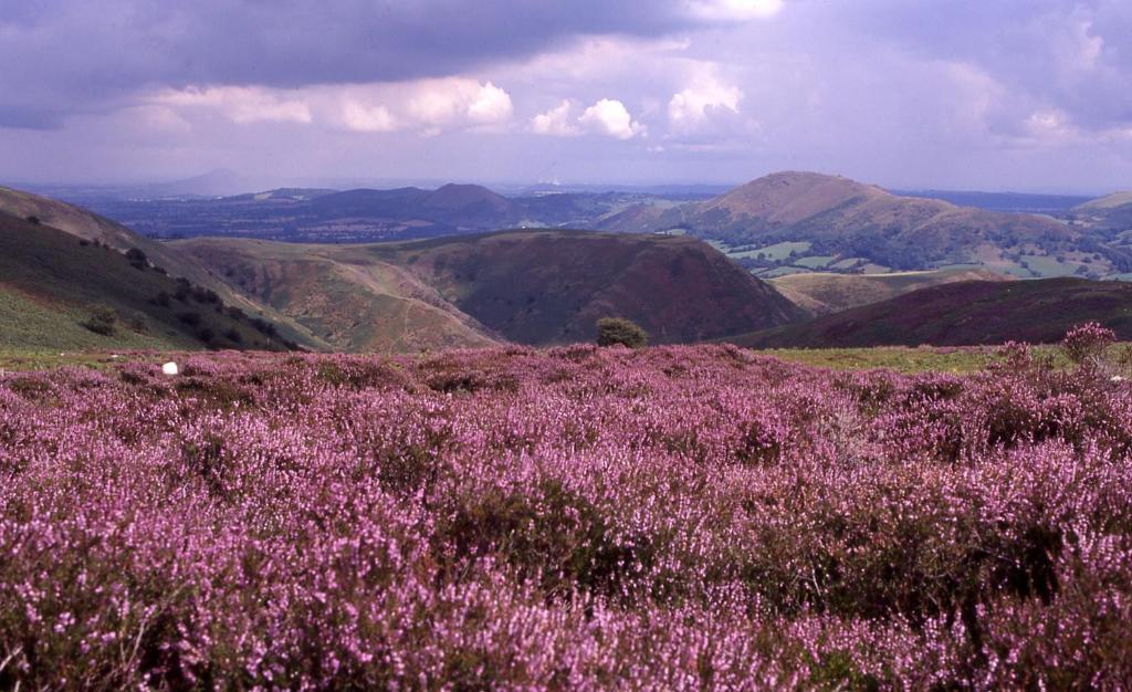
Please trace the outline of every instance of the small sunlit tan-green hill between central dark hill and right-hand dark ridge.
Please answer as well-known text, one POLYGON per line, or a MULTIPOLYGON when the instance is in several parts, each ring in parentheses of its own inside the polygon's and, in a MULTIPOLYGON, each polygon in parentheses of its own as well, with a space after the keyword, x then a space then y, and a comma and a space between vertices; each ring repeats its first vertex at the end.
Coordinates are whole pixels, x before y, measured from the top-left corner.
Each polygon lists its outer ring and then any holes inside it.
POLYGON ((829 315, 943 283, 1012 279, 985 270, 937 270, 893 274, 790 274, 771 279, 770 283, 814 315, 829 315))

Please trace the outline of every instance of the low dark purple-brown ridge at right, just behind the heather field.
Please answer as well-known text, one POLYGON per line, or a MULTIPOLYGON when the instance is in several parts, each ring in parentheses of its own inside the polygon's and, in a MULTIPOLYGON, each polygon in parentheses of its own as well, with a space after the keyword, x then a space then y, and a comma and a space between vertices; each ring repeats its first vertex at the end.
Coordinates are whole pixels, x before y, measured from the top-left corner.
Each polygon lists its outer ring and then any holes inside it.
POLYGON ((1053 343, 1084 322, 1132 339, 1132 284, 1070 277, 947 283, 731 341, 755 348, 1053 343))

